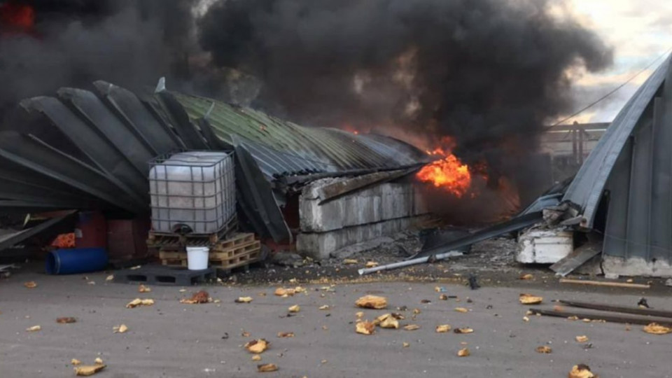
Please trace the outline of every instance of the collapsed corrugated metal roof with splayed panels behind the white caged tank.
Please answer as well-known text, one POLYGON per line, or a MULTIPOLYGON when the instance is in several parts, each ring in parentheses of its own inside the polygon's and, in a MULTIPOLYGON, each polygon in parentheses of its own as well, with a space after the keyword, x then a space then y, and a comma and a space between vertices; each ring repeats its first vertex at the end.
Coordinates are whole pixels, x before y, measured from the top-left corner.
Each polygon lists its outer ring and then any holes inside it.
MULTIPOLYGON (((25 99, 59 131, 0 135, 0 208, 102 209, 147 216, 148 162, 189 150, 234 150, 239 207, 255 231, 291 239, 281 178, 304 181, 417 166, 426 155, 397 139, 302 127, 260 111, 165 90, 135 94, 104 81, 25 99)), ((48 130, 43 129, 43 130, 48 130)))

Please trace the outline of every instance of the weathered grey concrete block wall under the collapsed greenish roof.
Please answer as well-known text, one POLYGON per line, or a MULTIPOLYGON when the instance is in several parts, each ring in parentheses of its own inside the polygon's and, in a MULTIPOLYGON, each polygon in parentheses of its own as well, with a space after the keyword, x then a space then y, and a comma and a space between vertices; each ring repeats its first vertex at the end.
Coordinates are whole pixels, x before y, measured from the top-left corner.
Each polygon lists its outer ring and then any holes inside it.
POLYGON ((296 248, 303 255, 328 258, 340 248, 405 230, 428 214, 413 183, 381 183, 319 204, 321 187, 334 180, 346 179, 316 181, 300 196, 296 248))

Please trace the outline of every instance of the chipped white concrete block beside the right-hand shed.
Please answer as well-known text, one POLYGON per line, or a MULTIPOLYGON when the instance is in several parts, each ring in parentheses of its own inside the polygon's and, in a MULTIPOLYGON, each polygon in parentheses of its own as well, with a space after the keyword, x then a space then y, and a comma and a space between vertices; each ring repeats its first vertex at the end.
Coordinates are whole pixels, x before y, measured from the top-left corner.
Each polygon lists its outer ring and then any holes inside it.
POLYGON ((573 250, 573 232, 530 230, 518 238, 516 260, 525 264, 554 264, 573 250))

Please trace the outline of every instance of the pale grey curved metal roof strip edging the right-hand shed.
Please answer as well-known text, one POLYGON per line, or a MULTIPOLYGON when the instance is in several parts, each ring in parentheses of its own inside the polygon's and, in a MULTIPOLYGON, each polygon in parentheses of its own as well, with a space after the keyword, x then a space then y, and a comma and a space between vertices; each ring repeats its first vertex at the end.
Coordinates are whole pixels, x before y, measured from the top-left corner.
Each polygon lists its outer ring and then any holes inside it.
POLYGON ((565 193, 563 201, 582 209, 583 227, 593 226, 605 183, 633 128, 668 75, 670 59, 667 57, 618 114, 565 193))

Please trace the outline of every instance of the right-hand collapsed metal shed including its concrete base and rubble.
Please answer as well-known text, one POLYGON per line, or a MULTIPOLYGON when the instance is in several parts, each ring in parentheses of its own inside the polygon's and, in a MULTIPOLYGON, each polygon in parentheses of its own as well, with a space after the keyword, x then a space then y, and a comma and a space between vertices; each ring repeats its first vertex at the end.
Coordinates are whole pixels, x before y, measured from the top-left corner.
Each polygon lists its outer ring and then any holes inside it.
MULTIPOLYGON (((559 274, 601 254, 604 274, 672 276, 671 59, 633 94, 575 177, 524 211, 544 209, 559 226, 549 237, 573 230, 575 244, 587 240, 551 267, 559 274)), ((519 261, 531 258, 529 246, 521 244, 519 261)))

